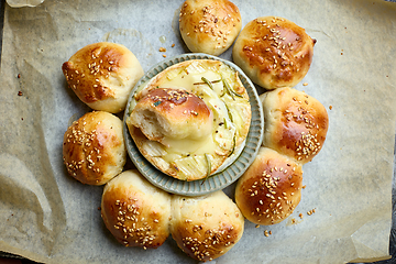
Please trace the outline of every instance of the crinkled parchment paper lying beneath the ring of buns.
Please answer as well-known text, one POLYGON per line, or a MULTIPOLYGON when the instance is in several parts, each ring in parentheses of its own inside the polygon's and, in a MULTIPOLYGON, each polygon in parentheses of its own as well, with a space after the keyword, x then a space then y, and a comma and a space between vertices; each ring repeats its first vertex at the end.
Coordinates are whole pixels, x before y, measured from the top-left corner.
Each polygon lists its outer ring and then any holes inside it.
MULTIPOLYGON (((396 4, 233 2, 243 25, 257 16, 283 16, 318 41, 311 69, 296 88, 323 103, 330 128, 320 154, 304 166, 307 187, 293 216, 272 227, 255 228, 246 221, 241 241, 213 263, 388 257, 396 4), (316 212, 308 216, 312 209, 316 212), (272 235, 264 237, 264 230, 272 235)), ((102 186, 74 180, 62 161, 63 134, 72 120, 89 111, 67 88, 62 64, 99 41, 124 44, 144 70, 162 61, 163 54, 188 52, 178 32, 182 3, 47 0, 36 8, 6 7, 0 76, 1 251, 45 263, 195 263, 170 238, 147 251, 116 242, 98 210, 102 186), (160 53, 160 47, 166 53, 160 53)), ((231 51, 221 57, 231 61, 231 51)), ((231 197, 233 188, 226 189, 231 197)))

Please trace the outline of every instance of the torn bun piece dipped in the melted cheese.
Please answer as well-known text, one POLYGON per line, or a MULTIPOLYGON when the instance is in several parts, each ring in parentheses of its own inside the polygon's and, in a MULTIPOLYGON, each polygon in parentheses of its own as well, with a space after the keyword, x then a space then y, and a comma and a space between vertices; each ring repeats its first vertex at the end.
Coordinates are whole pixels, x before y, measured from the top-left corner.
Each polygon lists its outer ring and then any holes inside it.
POLYGON ((212 131, 213 114, 202 99, 183 89, 158 88, 139 100, 131 124, 151 141, 200 139, 212 131))

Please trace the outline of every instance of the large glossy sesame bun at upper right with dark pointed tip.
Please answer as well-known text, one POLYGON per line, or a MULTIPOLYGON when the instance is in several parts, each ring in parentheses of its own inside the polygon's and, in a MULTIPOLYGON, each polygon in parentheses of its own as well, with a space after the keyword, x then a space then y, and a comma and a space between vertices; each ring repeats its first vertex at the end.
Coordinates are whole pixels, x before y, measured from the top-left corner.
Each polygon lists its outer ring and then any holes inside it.
POLYGON ((302 28, 276 16, 249 22, 232 50, 234 63, 267 90, 296 86, 308 73, 314 41, 302 28))

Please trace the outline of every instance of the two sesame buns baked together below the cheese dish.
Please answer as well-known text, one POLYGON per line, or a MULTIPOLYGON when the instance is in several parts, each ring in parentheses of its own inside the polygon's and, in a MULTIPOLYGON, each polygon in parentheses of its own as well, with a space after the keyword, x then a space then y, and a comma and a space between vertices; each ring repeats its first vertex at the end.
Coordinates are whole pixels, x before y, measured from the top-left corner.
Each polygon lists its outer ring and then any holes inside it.
POLYGON ((198 261, 223 255, 242 238, 244 218, 221 190, 200 197, 169 195, 138 170, 125 170, 105 187, 101 216, 125 246, 156 249, 172 234, 198 261))

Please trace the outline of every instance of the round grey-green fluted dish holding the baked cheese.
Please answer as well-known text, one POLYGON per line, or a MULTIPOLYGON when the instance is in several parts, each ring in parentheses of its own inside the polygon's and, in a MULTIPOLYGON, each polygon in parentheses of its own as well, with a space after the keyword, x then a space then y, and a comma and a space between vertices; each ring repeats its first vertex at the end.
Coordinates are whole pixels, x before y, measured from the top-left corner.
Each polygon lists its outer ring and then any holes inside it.
POLYGON ((178 55, 165 59, 156 64, 154 67, 152 67, 132 89, 131 95, 128 99, 128 105, 123 117, 123 133, 124 133, 127 150, 130 158, 132 160, 136 168, 154 186, 164 189, 168 193, 184 195, 184 196, 199 196, 219 189, 223 189, 227 186, 234 183, 240 176, 242 176, 242 174, 252 164, 258 152, 260 145, 263 140, 263 128, 264 128, 264 118, 263 118, 261 101, 258 99, 258 95, 255 90, 254 85, 246 77, 246 75, 233 63, 230 63, 226 59, 216 56, 199 54, 199 53, 178 55), (133 100, 133 96, 142 84, 150 81, 153 77, 155 77, 157 74, 160 74, 167 67, 190 59, 216 59, 224 63, 229 67, 237 70, 250 98, 252 119, 245 141, 245 146, 233 163, 231 163, 223 170, 210 176, 207 179, 186 182, 186 180, 176 179, 174 177, 170 177, 162 173, 140 153, 139 148, 134 144, 129 133, 125 120, 132 111, 131 102, 133 100))

